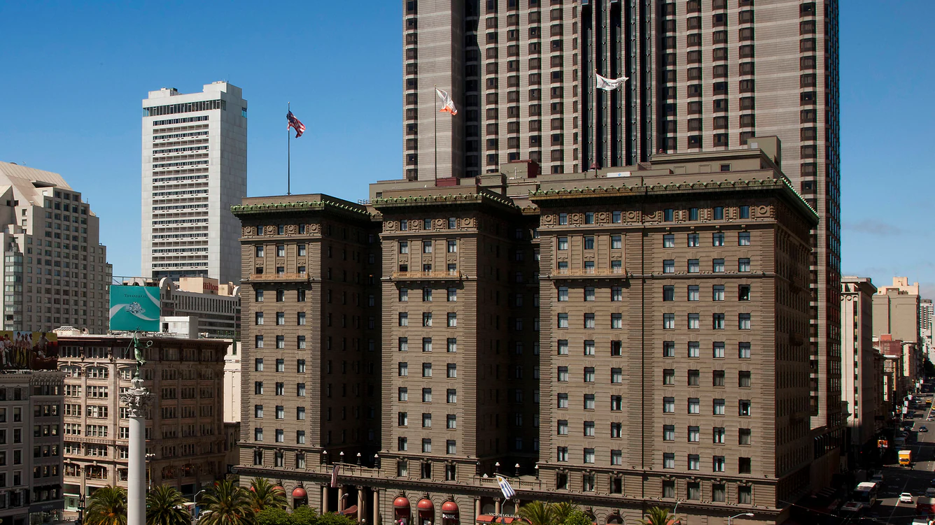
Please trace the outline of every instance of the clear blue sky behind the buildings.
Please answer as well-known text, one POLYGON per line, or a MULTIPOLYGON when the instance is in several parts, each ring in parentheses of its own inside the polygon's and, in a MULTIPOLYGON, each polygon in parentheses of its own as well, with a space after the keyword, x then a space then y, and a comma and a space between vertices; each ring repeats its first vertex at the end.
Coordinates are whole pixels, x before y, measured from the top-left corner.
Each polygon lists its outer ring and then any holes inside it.
MULTIPOLYGON (((139 274, 140 100, 226 79, 250 103, 250 195, 349 200, 401 177, 401 2, 0 2, 0 160, 61 173, 139 274)), ((935 295, 930 0, 841 1, 842 269, 935 295), (907 19, 907 17, 911 17, 907 19)))

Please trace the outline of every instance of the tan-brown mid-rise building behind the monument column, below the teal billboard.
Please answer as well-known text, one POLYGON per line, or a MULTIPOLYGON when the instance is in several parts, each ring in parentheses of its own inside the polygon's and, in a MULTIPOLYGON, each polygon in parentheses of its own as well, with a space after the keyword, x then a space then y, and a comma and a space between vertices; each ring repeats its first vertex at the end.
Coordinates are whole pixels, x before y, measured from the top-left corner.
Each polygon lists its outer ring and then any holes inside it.
MULTIPOLYGON (((146 419, 147 478, 189 497, 227 474, 223 357, 230 341, 142 341, 143 386, 155 396, 146 419)), ((108 485, 126 487, 129 419, 120 394, 136 370, 132 337, 59 335, 65 373, 65 510, 108 485)))

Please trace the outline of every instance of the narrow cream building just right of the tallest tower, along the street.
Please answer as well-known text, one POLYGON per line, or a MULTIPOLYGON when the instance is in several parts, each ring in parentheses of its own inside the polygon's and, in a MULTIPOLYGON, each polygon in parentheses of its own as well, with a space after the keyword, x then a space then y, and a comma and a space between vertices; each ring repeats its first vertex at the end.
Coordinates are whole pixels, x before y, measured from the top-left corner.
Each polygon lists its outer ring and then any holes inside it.
POLYGON ((854 454, 873 440, 885 417, 880 412, 883 357, 873 348, 874 293, 870 277, 841 277, 841 393, 854 454))

